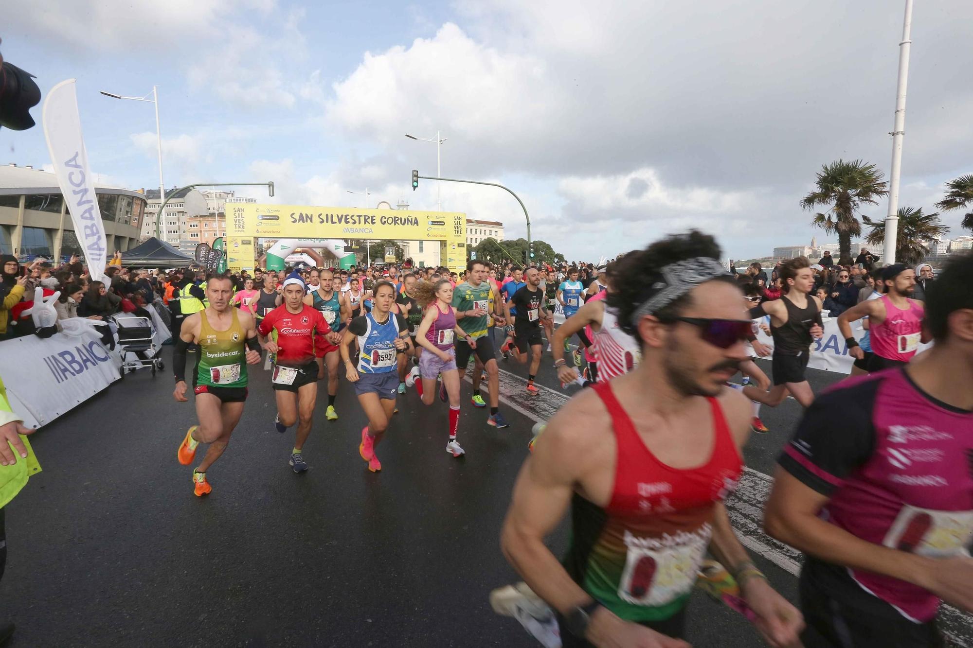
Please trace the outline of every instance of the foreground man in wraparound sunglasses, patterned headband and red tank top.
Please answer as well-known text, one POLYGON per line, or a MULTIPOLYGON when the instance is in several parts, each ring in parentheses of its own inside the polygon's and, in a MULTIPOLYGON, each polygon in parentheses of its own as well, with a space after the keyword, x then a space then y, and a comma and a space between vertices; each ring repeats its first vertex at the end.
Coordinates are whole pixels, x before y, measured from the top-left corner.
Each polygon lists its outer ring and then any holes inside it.
POLYGON ((619 262, 608 306, 642 361, 561 408, 521 470, 501 544, 557 612, 564 648, 687 646, 676 637, 707 551, 772 646, 793 644, 803 626, 723 504, 750 433, 749 404, 724 382, 746 357, 750 319, 719 252, 691 232, 619 262), (559 561, 544 538, 569 507, 573 542, 559 561))

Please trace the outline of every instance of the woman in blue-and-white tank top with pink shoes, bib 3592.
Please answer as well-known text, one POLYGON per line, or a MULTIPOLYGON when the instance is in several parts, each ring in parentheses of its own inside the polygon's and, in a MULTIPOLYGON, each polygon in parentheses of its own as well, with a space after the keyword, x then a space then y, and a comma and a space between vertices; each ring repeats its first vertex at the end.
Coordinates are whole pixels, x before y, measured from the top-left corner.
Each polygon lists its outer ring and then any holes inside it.
POLYGON ((412 345, 406 320, 399 313, 390 312, 394 302, 395 286, 390 281, 378 281, 372 312, 352 319, 342 338, 342 360, 348 382, 354 383, 358 402, 368 416, 358 453, 368 461, 368 469, 373 473, 381 470, 375 446, 388 429, 395 410, 399 384, 396 355, 412 345), (353 362, 349 347, 356 341, 360 350, 357 362, 353 362))

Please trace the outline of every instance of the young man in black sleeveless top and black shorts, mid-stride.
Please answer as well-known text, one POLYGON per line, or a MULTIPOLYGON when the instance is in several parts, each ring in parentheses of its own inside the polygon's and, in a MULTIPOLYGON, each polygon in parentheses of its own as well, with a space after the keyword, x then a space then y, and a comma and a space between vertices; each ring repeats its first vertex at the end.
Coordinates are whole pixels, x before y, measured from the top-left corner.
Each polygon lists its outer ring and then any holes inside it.
POLYGON ((802 407, 807 408, 814 400, 811 384, 805 378, 811 357, 811 342, 824 335, 821 301, 811 295, 814 275, 807 257, 790 259, 781 265, 780 279, 784 289, 780 299, 750 309, 753 318, 771 316, 771 337, 774 338, 771 373, 774 375, 774 387, 764 391, 748 386, 743 389, 743 395, 775 408, 789 392, 802 407))

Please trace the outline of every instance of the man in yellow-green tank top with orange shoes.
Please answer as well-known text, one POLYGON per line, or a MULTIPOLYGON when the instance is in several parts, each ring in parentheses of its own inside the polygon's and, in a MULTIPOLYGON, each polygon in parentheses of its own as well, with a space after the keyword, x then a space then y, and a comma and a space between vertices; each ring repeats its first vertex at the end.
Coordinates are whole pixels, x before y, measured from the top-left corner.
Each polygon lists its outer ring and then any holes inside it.
POLYGON ((199 345, 193 387, 196 393, 198 425, 193 425, 179 445, 179 463, 189 465, 200 443, 209 444, 202 462, 193 471, 197 495, 205 495, 212 486, 206 481, 206 470, 213 465, 230 443, 230 435, 243 414, 247 394, 247 365, 260 362, 260 343, 253 315, 230 305, 233 281, 220 274, 209 279, 206 301, 209 306, 183 320, 172 353, 177 402, 186 398, 186 347, 199 345), (244 344, 246 348, 244 348, 244 344))

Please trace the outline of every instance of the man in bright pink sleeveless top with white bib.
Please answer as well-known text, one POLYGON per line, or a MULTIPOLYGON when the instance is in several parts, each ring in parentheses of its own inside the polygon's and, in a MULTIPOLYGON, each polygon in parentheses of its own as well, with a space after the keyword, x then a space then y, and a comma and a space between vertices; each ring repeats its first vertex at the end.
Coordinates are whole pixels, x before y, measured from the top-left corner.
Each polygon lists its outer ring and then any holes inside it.
POLYGON ((916 288, 915 270, 895 264, 883 270, 882 280, 887 288, 882 298, 848 308, 838 317, 848 353, 859 360, 865 352, 851 335, 851 322, 868 317, 873 353, 866 367, 869 372, 901 367, 916 355, 922 342, 925 308, 918 300, 910 299, 916 288))

